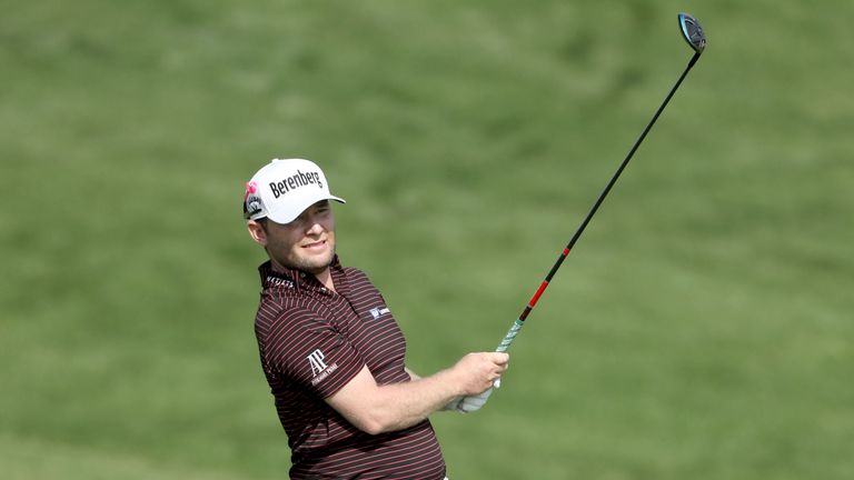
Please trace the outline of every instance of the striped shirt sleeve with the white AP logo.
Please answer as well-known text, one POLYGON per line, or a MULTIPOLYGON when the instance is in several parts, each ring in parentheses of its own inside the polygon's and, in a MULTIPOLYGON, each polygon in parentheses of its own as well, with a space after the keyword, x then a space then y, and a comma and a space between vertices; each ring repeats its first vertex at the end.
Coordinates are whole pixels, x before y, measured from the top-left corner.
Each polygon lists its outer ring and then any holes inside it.
POLYGON ((324 399, 365 367, 361 356, 332 324, 302 309, 281 312, 267 336, 264 354, 282 380, 324 399))

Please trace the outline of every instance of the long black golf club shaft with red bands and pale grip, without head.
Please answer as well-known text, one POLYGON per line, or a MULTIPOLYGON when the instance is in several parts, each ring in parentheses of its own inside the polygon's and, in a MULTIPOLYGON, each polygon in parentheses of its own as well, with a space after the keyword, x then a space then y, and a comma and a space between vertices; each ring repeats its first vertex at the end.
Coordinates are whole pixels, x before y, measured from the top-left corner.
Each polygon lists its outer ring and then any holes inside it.
POLYGON ((566 257, 569 256, 569 252, 573 250, 573 247, 575 247, 575 242, 577 242, 578 239, 582 237, 584 229, 587 228, 587 224, 593 219, 593 216, 596 214, 596 210, 599 209, 599 206, 605 200, 605 197, 608 196, 608 192, 614 187, 614 183, 616 183, 617 179, 619 178, 619 174, 623 173, 623 170, 625 170, 626 166, 628 164, 628 161, 632 160, 632 157, 635 154, 635 151, 637 151, 637 148, 640 147, 640 143, 646 138, 646 134, 649 133, 649 130, 652 130, 653 126, 655 124, 655 121, 658 120, 658 117, 664 111, 664 108, 667 107, 667 103, 669 103, 671 98, 673 98, 673 94, 676 93, 676 90, 682 84, 682 81, 685 80, 685 77, 688 74, 688 71, 691 71, 691 69, 694 67, 694 64, 697 62, 698 59, 699 59, 699 53, 695 52, 694 57, 692 57, 691 61, 688 61, 688 66, 682 72, 682 76, 679 76, 679 79, 673 86, 669 93, 667 93, 667 97, 664 99, 661 107, 658 107, 658 110, 656 110, 655 114, 653 116, 653 119, 649 120, 649 123, 646 124, 646 128, 644 128, 644 131, 637 138, 637 140, 635 141, 635 144, 632 146, 632 149, 628 151, 628 154, 619 164, 619 168, 617 169, 617 171, 614 173, 614 176, 610 178, 608 183, 605 186, 605 189, 602 191, 602 193, 599 193, 599 198, 596 199, 596 202, 593 204, 593 208, 590 208, 590 211, 587 212, 587 217, 585 217, 584 221, 582 221, 582 224, 578 226, 578 229, 575 231, 575 234, 569 240, 569 243, 566 244, 566 248, 564 248, 564 251, 560 252, 555 264, 552 266, 552 270, 548 271, 548 274, 546 274, 546 278, 539 284, 539 288, 537 289, 537 291, 534 292, 534 296, 525 306, 525 309, 522 311, 522 314, 519 314, 519 318, 513 323, 513 327, 510 327, 510 330, 504 337, 504 340, 502 340, 502 342, 498 344, 498 348, 496 349, 496 351, 503 352, 503 351, 507 351, 507 349, 510 348, 510 343, 513 343, 513 340, 519 333, 519 330, 522 330, 522 327, 525 326, 525 320, 528 318, 528 314, 530 313, 532 310, 534 310, 534 307, 537 306, 537 302, 539 301, 540 296, 543 296, 543 292, 546 291, 546 288, 548 288, 549 282, 555 277, 555 273, 557 273, 557 270, 560 269, 560 266, 564 263, 564 260, 566 260, 566 257))

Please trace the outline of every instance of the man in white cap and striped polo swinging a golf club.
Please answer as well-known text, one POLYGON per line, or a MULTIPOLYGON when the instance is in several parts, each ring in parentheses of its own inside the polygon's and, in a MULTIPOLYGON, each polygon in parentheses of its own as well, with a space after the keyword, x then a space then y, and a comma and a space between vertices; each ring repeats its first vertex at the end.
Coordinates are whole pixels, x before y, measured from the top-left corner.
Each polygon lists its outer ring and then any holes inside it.
POLYGON ((443 479, 427 417, 483 406, 508 357, 469 353, 426 378, 407 370, 406 342, 383 296, 335 254, 330 200, 344 203, 320 168, 301 159, 265 166, 244 197, 249 234, 269 257, 259 267, 255 330, 288 434, 290 477, 443 479))

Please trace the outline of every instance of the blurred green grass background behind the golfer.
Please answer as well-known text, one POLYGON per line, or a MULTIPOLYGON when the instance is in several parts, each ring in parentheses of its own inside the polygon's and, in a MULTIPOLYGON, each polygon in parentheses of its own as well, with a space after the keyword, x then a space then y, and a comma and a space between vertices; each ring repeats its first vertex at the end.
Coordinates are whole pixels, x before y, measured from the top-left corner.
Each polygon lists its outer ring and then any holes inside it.
POLYGON ((854 478, 854 4, 0 0, 0 477, 278 479, 244 182, 320 162, 455 479, 854 478))

